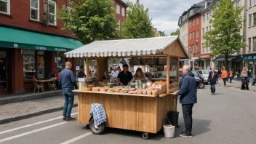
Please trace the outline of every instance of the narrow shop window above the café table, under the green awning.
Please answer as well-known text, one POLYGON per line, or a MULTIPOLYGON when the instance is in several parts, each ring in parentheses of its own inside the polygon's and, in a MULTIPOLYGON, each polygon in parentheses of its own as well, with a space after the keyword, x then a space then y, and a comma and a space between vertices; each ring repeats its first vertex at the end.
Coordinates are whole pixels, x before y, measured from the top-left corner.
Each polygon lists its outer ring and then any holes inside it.
POLYGON ((37 52, 37 76, 38 79, 46 79, 44 51, 41 50, 37 52))

